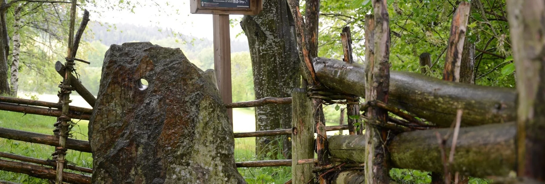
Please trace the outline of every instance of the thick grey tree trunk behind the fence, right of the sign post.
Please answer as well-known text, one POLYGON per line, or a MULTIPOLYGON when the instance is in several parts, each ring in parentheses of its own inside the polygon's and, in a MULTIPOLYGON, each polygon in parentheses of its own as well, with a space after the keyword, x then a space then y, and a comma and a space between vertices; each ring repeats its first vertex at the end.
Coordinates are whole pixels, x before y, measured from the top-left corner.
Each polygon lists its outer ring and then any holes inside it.
MULTIPOLYGON (((256 99, 289 97, 299 80, 299 52, 290 28, 286 1, 263 2, 263 11, 245 15, 241 26, 248 38, 252 58, 253 85, 256 99)), ((292 106, 256 107, 256 131, 291 128, 292 106)), ((256 138, 256 155, 267 156, 282 142, 283 154, 289 158, 291 142, 287 137, 256 138)), ((276 153, 272 154, 276 158, 276 153)))

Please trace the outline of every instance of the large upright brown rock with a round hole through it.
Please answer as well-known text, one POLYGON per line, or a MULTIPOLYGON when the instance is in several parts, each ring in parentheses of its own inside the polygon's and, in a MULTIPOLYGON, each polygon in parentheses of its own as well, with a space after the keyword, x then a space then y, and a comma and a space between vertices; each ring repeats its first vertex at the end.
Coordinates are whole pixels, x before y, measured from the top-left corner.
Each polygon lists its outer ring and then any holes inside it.
POLYGON ((212 78, 179 49, 112 45, 89 122, 92 182, 245 183, 212 78))

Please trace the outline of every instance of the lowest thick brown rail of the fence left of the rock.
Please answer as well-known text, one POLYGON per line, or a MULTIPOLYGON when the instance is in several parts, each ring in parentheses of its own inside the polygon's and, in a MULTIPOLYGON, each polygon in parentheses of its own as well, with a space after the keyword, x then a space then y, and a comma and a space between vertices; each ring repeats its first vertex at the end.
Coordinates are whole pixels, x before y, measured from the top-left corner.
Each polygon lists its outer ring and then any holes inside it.
MULTIPOLYGON (((0 159, 0 170, 10 171, 14 173, 26 174, 40 179, 56 179, 56 171, 49 167, 41 165, 15 162, 0 159)), ((87 175, 63 173, 63 182, 66 183, 91 183, 91 177, 87 175)))

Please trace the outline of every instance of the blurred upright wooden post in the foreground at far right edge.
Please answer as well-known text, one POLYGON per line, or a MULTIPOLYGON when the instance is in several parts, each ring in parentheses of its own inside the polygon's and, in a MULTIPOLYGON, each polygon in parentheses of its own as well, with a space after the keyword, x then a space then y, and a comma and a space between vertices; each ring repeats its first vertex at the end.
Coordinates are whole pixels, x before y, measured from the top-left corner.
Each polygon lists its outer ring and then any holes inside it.
POLYGON ((507 1, 516 66, 517 174, 545 181, 545 2, 507 1))

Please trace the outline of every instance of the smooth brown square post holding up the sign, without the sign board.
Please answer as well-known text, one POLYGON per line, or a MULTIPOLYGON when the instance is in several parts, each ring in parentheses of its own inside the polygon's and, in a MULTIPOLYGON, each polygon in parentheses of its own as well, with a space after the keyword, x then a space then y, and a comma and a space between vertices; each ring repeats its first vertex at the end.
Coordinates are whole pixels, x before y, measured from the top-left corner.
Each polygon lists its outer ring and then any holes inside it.
MULTIPOLYGON (((223 103, 232 103, 231 91, 231 34, 229 15, 213 15, 214 22, 214 70, 223 103)), ((227 109, 233 127, 233 109, 227 109)))

